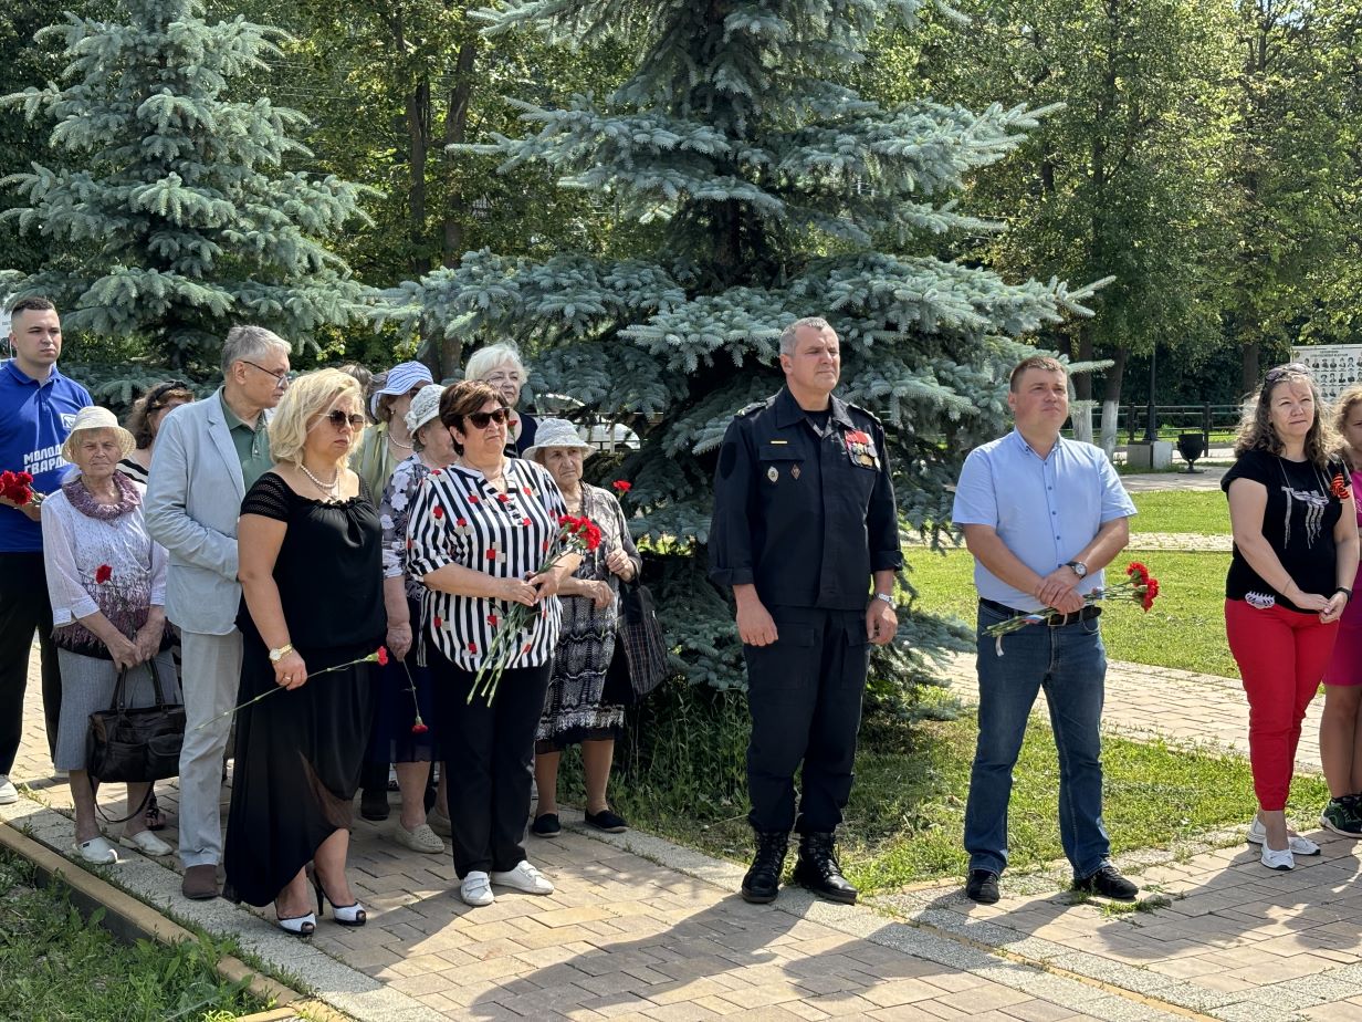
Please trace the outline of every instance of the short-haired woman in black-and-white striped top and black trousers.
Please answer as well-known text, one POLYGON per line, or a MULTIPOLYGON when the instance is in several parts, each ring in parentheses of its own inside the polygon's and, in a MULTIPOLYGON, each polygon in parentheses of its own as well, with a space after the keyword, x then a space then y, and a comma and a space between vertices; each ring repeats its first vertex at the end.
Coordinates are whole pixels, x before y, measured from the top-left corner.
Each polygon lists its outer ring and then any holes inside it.
POLYGON ((407 568, 426 587, 422 628, 430 649, 439 733, 449 774, 449 819, 459 894, 490 905, 492 884, 550 894, 524 857, 534 733, 558 640, 558 583, 577 567, 543 571, 567 512, 553 477, 507 458, 507 406, 485 383, 464 380, 440 399, 459 459, 425 477, 407 525, 407 568), (489 704, 473 679, 512 602, 541 613, 489 704))

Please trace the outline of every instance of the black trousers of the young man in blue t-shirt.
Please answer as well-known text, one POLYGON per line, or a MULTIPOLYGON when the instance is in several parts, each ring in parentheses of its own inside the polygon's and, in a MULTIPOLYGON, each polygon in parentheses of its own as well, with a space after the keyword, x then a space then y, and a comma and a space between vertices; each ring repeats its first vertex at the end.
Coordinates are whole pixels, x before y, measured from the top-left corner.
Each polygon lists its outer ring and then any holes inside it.
POLYGON ((23 694, 29 650, 38 632, 42 654, 42 717, 48 752, 56 752, 61 717, 61 675, 52 642, 52 604, 42 553, 0 553, 0 774, 14 770, 23 737, 23 694))

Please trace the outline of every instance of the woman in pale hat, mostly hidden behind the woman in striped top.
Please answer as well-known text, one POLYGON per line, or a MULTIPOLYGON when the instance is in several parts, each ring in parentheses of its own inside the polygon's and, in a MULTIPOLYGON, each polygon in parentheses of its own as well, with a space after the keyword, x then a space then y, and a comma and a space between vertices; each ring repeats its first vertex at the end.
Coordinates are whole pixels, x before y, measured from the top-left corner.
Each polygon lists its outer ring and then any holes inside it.
POLYGON ((449 835, 448 786, 444 770, 436 793, 436 812, 426 816, 425 790, 430 764, 439 760, 437 734, 430 730, 433 706, 430 670, 413 643, 413 621, 421 620, 424 586, 407 571, 407 518, 421 481, 455 459, 454 437, 440 421, 443 387, 426 387, 411 401, 406 427, 415 454, 392 473, 379 504, 383 526, 383 602, 388 609, 388 651, 381 669, 379 713, 373 725, 370 760, 392 763, 402 790, 402 815, 392 837, 413 852, 444 852, 440 834, 449 835))

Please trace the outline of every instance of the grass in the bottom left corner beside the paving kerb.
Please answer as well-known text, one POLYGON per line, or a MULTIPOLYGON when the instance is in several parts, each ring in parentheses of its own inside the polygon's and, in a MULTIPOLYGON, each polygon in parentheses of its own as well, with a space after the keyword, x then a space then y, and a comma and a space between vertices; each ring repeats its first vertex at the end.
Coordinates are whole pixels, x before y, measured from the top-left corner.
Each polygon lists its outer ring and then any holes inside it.
MULTIPOLYGON (((102 910, 101 910, 102 912, 102 910)), ((0 1012, 42 1022, 230 1022, 263 1004, 214 972, 207 942, 123 944, 60 886, 0 852, 0 1012)))

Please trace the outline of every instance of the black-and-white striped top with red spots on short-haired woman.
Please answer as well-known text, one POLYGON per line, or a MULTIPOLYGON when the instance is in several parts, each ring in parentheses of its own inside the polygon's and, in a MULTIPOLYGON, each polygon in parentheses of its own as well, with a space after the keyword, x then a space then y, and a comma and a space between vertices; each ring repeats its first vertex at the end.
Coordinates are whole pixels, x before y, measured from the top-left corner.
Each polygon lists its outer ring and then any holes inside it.
MULTIPOLYGON (((496 578, 526 578, 543 567, 558 534, 558 516, 568 510, 563 493, 542 466, 520 458, 505 461, 505 482, 501 493, 481 471, 458 465, 436 469, 421 481, 407 519, 406 561, 413 578, 445 564, 496 578)), ((477 670, 508 609, 504 600, 428 589, 421 623, 445 657, 477 670)), ((553 657, 563 621, 558 598, 542 601, 533 620, 509 668, 539 666, 553 657)))

